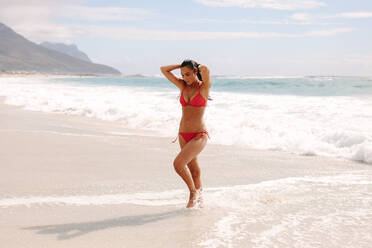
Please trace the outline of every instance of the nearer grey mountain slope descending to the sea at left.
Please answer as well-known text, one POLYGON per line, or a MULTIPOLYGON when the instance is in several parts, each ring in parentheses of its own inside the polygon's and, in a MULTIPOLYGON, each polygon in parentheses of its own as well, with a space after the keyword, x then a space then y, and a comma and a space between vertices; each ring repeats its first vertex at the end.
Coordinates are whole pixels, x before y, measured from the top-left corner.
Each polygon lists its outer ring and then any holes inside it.
POLYGON ((32 71, 52 74, 121 74, 35 44, 0 23, 0 71, 32 71))

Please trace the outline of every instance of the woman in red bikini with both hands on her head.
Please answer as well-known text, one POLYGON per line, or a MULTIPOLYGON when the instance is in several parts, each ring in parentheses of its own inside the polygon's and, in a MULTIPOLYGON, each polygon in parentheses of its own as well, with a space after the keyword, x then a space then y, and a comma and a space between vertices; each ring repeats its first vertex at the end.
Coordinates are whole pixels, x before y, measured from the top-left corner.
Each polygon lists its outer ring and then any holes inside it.
POLYGON ((193 60, 185 60, 180 65, 162 66, 160 70, 181 91, 182 119, 179 127, 181 151, 174 159, 173 165, 189 188, 190 197, 186 207, 191 208, 196 203, 202 203, 202 184, 197 156, 207 144, 209 137, 203 121, 211 87, 209 69, 193 60), (171 72, 179 68, 182 79, 171 72))

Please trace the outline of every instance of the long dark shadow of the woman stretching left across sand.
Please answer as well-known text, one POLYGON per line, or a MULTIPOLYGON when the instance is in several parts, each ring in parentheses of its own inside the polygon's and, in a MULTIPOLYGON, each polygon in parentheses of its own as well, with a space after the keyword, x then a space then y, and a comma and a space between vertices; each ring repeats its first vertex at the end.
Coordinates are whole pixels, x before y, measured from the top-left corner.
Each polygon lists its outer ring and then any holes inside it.
POLYGON ((123 216, 102 221, 92 221, 83 223, 66 223, 58 225, 30 226, 24 227, 26 230, 37 230, 37 234, 56 234, 58 240, 71 239, 94 231, 104 230, 114 227, 138 226, 150 222, 161 221, 168 218, 187 214, 184 209, 168 211, 156 214, 144 214, 135 216, 123 216))

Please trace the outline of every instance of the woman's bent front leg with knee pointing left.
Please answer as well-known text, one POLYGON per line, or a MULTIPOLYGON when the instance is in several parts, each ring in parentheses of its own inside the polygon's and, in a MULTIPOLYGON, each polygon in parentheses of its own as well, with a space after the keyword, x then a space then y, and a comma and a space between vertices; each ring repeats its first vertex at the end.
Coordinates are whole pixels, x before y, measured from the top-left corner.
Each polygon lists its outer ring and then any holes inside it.
MULTIPOLYGON (((184 182, 187 184, 187 187, 189 188, 190 198, 187 204, 188 208, 193 207, 195 205, 196 198, 198 196, 197 189, 200 189, 201 183, 200 183, 200 177, 199 177, 199 182, 197 182, 197 184, 195 185, 193 176, 190 173, 190 171, 186 168, 186 165, 189 164, 194 158, 196 158, 196 156, 203 150, 206 143, 207 143, 206 136, 202 136, 198 139, 194 138, 188 143, 186 143, 183 140, 183 138, 180 137, 181 151, 175 158, 173 165, 174 165, 176 172, 181 176, 181 178, 184 180, 184 182)), ((193 173, 195 175, 195 170, 193 171, 193 173)))

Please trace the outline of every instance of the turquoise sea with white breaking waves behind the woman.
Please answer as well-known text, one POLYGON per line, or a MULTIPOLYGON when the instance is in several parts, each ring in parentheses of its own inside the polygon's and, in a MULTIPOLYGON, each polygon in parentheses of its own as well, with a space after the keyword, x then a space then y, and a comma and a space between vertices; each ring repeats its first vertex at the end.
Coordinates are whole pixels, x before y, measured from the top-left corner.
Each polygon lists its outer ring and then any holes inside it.
MULTIPOLYGON (((180 92, 160 75, 0 78, 5 103, 174 138, 180 92)), ((372 164, 372 78, 212 77, 210 143, 372 164)))

